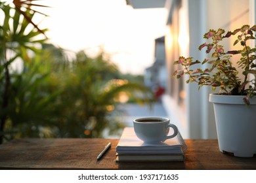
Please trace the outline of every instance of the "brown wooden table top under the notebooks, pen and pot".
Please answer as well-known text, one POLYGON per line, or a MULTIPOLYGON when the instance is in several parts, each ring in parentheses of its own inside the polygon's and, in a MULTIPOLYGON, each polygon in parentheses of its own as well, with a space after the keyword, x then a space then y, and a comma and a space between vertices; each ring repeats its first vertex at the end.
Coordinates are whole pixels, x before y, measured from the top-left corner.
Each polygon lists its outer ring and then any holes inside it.
POLYGON ((0 145, 1 169, 256 169, 256 157, 219 151, 217 140, 185 140, 182 162, 116 162, 118 139, 14 139, 0 145), (108 152, 99 152, 112 142, 108 152))

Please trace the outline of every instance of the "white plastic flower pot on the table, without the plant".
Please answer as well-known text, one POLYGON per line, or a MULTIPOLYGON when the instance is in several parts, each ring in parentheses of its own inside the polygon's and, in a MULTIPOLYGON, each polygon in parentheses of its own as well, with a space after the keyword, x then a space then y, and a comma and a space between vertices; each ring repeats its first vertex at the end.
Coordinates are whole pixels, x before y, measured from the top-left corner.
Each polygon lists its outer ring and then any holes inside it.
POLYGON ((244 96, 210 94, 213 103, 219 149, 234 156, 256 154, 256 97, 245 105, 244 96))

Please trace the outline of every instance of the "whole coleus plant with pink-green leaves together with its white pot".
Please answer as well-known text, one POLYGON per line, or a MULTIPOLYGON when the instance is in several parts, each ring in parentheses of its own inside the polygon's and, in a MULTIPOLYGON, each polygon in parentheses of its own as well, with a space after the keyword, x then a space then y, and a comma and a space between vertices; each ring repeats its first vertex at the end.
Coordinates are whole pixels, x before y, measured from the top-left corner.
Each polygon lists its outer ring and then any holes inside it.
POLYGON ((206 48, 209 58, 201 62, 181 56, 174 63, 182 69, 173 76, 187 75, 186 83, 196 82, 199 88, 211 86, 213 91, 219 90, 209 95, 215 110, 219 149, 238 157, 256 154, 256 48, 249 46, 249 41, 255 40, 255 31, 256 25, 243 25, 227 33, 224 29, 210 29, 203 37, 209 41, 198 48, 206 48), (240 44, 242 48, 224 51, 221 42, 233 36, 237 37, 233 46, 240 44), (240 56, 236 63, 230 60, 234 54, 240 56), (209 67, 202 69, 205 63, 209 67))

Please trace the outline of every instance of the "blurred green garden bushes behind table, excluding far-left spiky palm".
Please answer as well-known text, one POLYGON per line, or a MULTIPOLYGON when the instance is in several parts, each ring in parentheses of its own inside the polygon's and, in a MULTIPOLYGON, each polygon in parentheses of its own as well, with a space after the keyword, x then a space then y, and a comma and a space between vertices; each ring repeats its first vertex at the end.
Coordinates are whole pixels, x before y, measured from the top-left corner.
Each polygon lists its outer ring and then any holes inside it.
POLYGON ((115 115, 120 94, 141 103, 154 99, 142 84, 119 79, 116 65, 102 54, 89 58, 79 52, 73 61, 61 61, 60 55, 48 46, 14 79, 13 87, 20 88, 14 93, 10 120, 18 137, 102 137, 117 133, 123 127, 115 115))

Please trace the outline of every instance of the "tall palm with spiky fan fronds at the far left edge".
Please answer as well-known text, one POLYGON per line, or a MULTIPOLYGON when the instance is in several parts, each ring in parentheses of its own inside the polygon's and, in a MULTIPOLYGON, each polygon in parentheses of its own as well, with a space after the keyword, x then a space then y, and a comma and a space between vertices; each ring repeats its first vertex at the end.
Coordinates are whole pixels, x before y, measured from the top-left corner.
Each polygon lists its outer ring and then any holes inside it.
POLYGON ((0 1, 0 144, 6 137, 6 126, 11 126, 9 108, 12 106, 12 90, 15 90, 12 88, 15 76, 11 71, 11 63, 16 59, 30 61, 29 50, 38 51, 36 44, 40 45, 46 39, 40 37, 46 29, 39 29, 32 20, 36 12, 32 10, 32 5, 33 0, 15 0, 10 4, 0 1))

